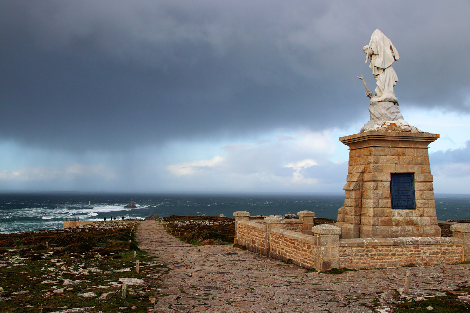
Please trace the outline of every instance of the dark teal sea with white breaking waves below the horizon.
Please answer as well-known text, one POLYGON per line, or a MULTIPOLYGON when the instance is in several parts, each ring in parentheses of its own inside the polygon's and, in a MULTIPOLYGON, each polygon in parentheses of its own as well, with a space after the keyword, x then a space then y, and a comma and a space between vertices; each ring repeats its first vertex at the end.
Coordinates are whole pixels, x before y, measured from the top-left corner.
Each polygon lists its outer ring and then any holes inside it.
MULTIPOLYGON (((144 218, 151 214, 224 214, 243 210, 251 215, 315 212, 315 217, 336 219, 345 197, 341 194, 95 194, 0 193, 0 233, 60 229, 66 217, 88 221, 144 218), (135 209, 125 209, 134 197, 135 209), (90 204, 90 205, 89 205, 90 204)), ((439 220, 470 220, 470 194, 435 194, 439 220)))

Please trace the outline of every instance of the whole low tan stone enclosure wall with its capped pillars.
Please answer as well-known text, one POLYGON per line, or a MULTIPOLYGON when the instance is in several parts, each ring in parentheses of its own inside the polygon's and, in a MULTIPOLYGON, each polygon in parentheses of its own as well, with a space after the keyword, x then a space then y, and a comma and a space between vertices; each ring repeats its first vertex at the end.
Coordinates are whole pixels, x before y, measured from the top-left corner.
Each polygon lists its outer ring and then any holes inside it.
POLYGON ((285 229, 286 221, 280 217, 267 217, 263 225, 249 221, 249 213, 242 212, 234 213, 236 244, 308 269, 390 268, 470 260, 470 224, 452 225, 453 237, 340 239, 341 229, 334 225, 314 226, 309 231, 313 235, 309 235, 285 229))

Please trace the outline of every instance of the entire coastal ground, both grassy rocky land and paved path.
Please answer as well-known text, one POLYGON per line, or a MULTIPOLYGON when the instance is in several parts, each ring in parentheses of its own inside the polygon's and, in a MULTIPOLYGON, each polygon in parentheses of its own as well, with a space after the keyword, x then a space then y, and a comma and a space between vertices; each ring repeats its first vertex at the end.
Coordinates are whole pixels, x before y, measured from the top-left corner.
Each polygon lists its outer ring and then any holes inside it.
POLYGON ((233 227, 231 218, 171 216, 0 235, 4 246, 0 248, 0 311, 398 313, 430 310, 427 307, 433 312, 470 309, 465 303, 470 301, 469 264, 309 271, 234 247, 228 241, 233 238, 233 227), (410 292, 400 294, 408 270, 410 292))

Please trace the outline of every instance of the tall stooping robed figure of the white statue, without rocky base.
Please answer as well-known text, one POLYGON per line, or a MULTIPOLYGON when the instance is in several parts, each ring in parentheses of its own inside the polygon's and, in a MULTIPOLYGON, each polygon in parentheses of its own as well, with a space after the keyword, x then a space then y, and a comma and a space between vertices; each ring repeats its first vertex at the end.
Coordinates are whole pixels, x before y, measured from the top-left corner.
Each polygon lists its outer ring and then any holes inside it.
POLYGON ((368 57, 371 57, 369 67, 372 69, 372 74, 377 81, 375 89, 377 96, 396 99, 393 86, 398 82, 397 73, 392 68, 393 61, 397 61, 400 56, 397 49, 393 46, 387 36, 381 31, 376 30, 370 38, 368 45, 368 57))

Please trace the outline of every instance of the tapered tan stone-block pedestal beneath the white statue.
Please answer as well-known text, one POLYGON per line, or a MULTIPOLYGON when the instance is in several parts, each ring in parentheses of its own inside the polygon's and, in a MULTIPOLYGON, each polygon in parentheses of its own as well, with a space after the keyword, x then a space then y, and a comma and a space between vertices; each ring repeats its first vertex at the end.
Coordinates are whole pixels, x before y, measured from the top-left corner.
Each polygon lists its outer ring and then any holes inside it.
POLYGON ((428 145, 439 134, 367 131, 341 137, 349 146, 342 238, 440 237, 428 145), (392 209, 391 173, 414 173, 415 209, 392 209))

